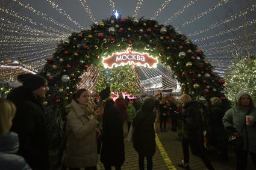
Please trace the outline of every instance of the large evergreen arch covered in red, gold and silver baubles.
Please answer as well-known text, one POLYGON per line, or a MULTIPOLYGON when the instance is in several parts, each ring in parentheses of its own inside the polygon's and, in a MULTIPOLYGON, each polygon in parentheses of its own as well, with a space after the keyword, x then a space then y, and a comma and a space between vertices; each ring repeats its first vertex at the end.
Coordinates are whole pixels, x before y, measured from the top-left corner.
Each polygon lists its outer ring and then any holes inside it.
MULTIPOLYGON (((52 133, 51 139, 60 139, 63 122, 61 115, 81 80, 81 74, 90 65, 102 64, 102 59, 107 56, 111 58, 115 52, 128 50, 147 53, 158 59, 158 62, 169 65, 183 92, 194 98, 225 98, 225 80, 213 72, 202 50, 188 40, 186 35, 179 34, 170 25, 159 25, 155 20, 111 16, 81 32, 73 32, 68 40, 60 41, 52 58, 47 58, 41 74, 48 79, 49 85, 43 105, 46 108, 49 132, 52 133)), ((134 56, 133 59, 139 58, 134 56)), ((52 144, 58 142, 52 141, 52 144)))

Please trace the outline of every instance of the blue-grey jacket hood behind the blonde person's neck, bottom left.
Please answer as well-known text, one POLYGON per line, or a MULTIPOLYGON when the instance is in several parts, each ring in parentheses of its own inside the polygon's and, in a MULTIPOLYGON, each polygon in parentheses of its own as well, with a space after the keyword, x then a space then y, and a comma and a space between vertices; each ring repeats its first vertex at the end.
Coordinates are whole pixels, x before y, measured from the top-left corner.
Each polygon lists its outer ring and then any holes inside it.
POLYGON ((19 149, 19 138, 14 132, 0 135, 0 152, 14 154, 19 149))

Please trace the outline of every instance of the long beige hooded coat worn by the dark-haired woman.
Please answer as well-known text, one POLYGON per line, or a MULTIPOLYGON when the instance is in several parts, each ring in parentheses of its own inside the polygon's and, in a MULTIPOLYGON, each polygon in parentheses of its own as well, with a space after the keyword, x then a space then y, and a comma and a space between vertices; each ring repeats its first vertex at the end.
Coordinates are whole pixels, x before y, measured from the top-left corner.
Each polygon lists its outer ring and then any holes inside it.
POLYGON ((75 100, 66 106, 67 147, 65 165, 69 168, 96 166, 98 162, 96 126, 92 110, 78 105, 75 100))

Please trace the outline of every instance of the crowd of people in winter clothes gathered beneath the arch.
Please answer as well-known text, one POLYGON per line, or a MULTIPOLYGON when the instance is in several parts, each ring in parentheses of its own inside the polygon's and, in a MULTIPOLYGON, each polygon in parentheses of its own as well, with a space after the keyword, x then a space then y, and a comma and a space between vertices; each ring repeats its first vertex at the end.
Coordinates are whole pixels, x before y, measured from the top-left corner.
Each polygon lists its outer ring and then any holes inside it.
MULTIPOLYGON (((47 80, 35 74, 20 74, 17 78, 22 86, 11 90, 7 99, 0 99, 0 169, 48 170, 47 123, 40 103, 48 89, 47 80)), ((248 154, 256 168, 256 109, 245 92, 237 93, 236 105, 228 107, 218 97, 206 102, 193 100, 188 94, 179 99, 168 95, 130 100, 119 93, 114 101, 110 87, 102 90, 96 101, 88 90, 80 89, 73 93, 66 113, 64 145, 59 156, 61 169, 96 170, 98 154, 105 169, 121 169, 125 162, 125 122, 127 131, 134 131, 139 169, 145 169, 145 157, 147 169, 153 169, 154 125, 158 119, 161 132, 167 131, 169 119, 172 131, 182 132, 183 160, 177 166, 190 169, 190 147, 207 169, 214 169, 205 151, 205 136, 219 150, 221 159, 228 161, 229 134, 242 139, 234 148, 236 169, 246 169, 248 154)))

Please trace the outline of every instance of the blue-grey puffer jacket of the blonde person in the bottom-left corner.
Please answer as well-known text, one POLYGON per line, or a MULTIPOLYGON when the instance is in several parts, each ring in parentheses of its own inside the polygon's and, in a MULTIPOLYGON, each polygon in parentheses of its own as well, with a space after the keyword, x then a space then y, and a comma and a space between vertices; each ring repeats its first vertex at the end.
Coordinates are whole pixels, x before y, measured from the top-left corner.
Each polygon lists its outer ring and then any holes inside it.
POLYGON ((31 170, 25 159, 16 155, 18 148, 19 138, 16 133, 0 135, 0 169, 31 170))

